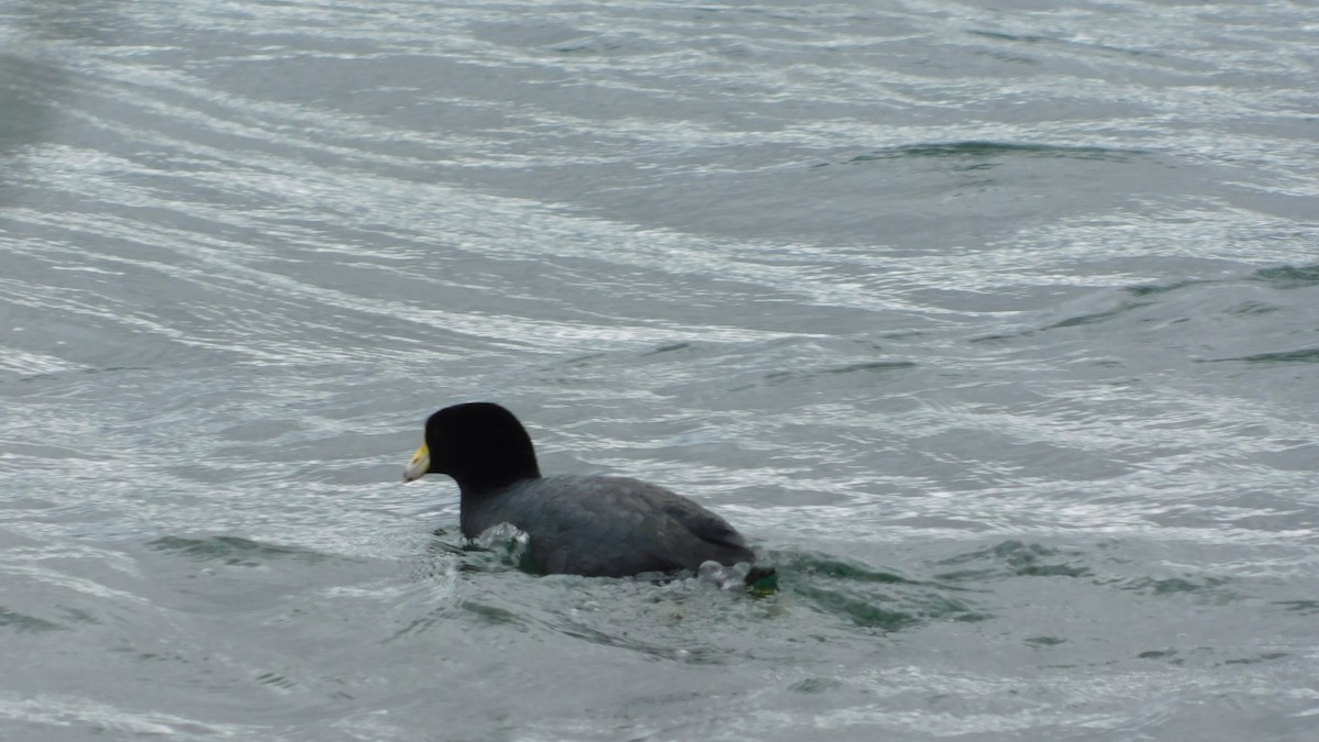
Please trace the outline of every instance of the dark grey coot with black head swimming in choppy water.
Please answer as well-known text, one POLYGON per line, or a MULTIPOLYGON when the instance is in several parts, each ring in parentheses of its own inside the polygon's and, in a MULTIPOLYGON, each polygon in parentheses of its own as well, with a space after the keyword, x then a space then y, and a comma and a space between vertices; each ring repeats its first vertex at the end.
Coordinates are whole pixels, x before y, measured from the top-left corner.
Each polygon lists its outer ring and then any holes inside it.
MULTIPOLYGON (((542 477, 526 428, 493 403, 446 407, 426 420, 426 442, 404 481, 458 482, 459 524, 475 539, 509 523, 530 539, 543 574, 628 577, 754 562, 723 518, 663 487, 625 477, 542 477)), ((772 574, 753 569, 748 581, 772 574)))

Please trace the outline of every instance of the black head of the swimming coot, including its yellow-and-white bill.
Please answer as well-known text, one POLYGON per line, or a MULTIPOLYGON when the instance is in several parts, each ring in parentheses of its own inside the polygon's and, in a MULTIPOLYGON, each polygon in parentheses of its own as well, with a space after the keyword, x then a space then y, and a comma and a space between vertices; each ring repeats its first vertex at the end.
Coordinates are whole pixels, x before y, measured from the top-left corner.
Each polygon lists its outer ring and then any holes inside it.
POLYGON ((526 429, 512 412, 488 401, 446 407, 426 420, 426 445, 404 479, 430 473, 452 477, 464 496, 541 475, 526 429))

